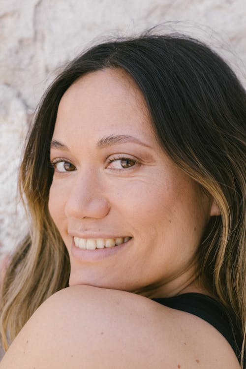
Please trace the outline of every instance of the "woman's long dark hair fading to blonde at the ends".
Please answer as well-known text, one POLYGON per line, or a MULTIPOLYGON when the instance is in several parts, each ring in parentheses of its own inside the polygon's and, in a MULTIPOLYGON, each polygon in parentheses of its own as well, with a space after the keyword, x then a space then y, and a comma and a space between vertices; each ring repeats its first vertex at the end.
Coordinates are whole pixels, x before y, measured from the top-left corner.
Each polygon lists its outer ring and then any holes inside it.
POLYGON ((8 347, 7 334, 11 341, 44 300, 68 285, 68 254, 48 211, 50 142, 64 92, 86 73, 105 68, 122 68, 131 76, 144 96, 160 146, 220 209, 198 249, 198 272, 235 317, 244 350, 246 92, 205 44, 179 34, 149 33, 93 46, 67 64, 40 103, 19 178, 31 230, 2 287, 3 346, 8 347))

